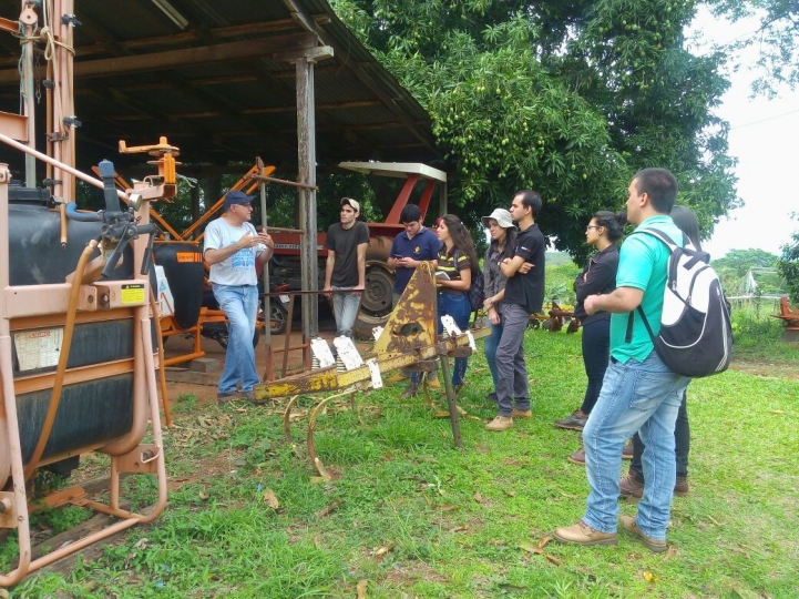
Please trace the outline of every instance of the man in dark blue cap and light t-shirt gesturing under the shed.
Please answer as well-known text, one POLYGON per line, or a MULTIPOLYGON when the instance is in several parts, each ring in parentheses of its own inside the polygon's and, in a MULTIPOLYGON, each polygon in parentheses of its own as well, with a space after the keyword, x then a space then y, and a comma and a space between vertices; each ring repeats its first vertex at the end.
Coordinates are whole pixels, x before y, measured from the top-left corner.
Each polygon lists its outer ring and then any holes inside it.
POLYGON ((225 212, 205 229, 203 257, 211 267, 212 291, 229 322, 225 367, 217 384, 217 402, 246 398, 254 402, 253 386, 260 383, 255 368, 253 336, 258 315, 256 263, 264 265, 275 251, 266 231, 256 232, 253 196, 227 192, 225 212), (236 389, 240 382, 242 392, 236 389))

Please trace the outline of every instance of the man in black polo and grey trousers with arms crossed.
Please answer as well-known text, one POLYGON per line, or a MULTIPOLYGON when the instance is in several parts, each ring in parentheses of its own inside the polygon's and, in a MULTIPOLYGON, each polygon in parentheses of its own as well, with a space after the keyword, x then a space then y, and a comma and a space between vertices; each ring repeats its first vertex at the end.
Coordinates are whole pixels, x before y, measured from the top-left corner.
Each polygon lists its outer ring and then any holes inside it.
POLYGON ((513 426, 513 417, 531 418, 527 368, 524 363, 524 332, 530 315, 544 303, 544 252, 546 242, 535 224, 541 211, 541 196, 530 190, 520 191, 511 203, 511 216, 520 229, 513 257, 500 263, 508 277, 502 300, 502 338, 496 347, 496 400, 499 414, 485 425, 502 432, 513 426))

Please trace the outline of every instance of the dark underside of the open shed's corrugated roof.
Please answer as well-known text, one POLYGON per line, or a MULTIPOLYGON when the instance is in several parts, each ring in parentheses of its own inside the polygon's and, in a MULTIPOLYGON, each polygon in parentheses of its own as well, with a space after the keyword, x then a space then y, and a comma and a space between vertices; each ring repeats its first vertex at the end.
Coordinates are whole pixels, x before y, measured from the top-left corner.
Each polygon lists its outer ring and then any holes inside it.
MULTIPOLYGON (((274 42, 290 44, 304 34, 310 45, 335 51, 315 68, 320 166, 377 159, 440 164, 426 111, 325 0, 166 2, 185 28, 154 0, 75 0, 80 167, 103 158, 123 165, 136 159, 117 154, 120 139, 145 145, 165 135, 183 161, 225 164, 259 155, 290 169, 297 160, 295 65, 274 42), (248 41, 253 49, 275 47, 249 52, 248 41), (237 42, 243 58, 194 60, 237 42)), ((0 0, 0 17, 14 20, 19 11, 19 0, 0 0)), ((18 40, 0 32, 0 110, 7 112, 19 110, 18 59, 18 40)))

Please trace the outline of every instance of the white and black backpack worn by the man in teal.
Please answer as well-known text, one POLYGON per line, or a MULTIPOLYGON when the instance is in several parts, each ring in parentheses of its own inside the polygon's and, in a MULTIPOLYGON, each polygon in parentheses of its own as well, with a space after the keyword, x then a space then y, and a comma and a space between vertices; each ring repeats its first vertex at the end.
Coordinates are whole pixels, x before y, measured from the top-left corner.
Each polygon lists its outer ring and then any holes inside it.
MULTIPOLYGON (((657 229, 635 233, 657 237, 670 252, 657 335, 653 334, 642 307, 637 309, 657 355, 683 376, 698 378, 725 372, 733 349, 733 326, 721 283, 708 264, 709 254, 695 250, 687 240, 685 247, 678 247, 657 229)), ((627 343, 633 335, 634 316, 635 312, 631 312, 627 343)))

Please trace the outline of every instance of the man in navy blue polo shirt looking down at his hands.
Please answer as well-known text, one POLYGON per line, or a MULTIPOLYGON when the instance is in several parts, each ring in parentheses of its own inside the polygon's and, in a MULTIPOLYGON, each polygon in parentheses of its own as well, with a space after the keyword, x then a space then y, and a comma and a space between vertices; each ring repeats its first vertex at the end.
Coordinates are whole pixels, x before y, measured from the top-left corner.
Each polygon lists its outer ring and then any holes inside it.
MULTIPOLYGON (((439 236, 422 224, 422 212, 416 204, 408 204, 402 209, 400 223, 406 230, 395 237, 387 261, 388 267, 395 272, 392 307, 397 306, 417 266, 422 262, 431 262, 434 266, 441 248, 439 236)), ((406 378, 410 378, 410 372, 400 369, 399 374, 387 380, 397 383, 406 378)), ((441 386, 434 370, 430 373, 430 386, 441 386)))

